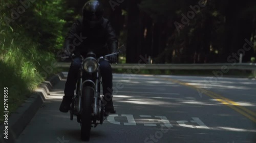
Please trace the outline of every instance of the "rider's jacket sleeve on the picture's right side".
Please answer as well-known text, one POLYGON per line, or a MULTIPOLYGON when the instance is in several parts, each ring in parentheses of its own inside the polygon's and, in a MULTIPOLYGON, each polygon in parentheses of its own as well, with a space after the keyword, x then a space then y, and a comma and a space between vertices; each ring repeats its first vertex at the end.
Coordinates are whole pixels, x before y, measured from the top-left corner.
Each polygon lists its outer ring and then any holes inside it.
POLYGON ((106 34, 107 43, 111 53, 116 52, 118 47, 118 39, 115 34, 114 28, 111 26, 110 21, 106 21, 106 34))

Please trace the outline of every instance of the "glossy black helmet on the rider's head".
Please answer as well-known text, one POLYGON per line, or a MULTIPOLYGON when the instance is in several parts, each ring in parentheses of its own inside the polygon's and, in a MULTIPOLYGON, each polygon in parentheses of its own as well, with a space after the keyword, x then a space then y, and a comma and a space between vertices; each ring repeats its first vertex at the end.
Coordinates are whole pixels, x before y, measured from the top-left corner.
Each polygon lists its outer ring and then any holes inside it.
POLYGON ((95 27, 103 22, 103 5, 96 0, 90 0, 82 9, 83 24, 95 27))

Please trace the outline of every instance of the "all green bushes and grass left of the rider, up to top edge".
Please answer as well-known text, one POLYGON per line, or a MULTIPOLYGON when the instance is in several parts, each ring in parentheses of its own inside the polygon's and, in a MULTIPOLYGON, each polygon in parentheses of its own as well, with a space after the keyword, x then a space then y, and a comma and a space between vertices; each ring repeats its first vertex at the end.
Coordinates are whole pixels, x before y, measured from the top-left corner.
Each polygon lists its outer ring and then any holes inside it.
MULTIPOLYGON (((8 87, 10 113, 40 82, 60 71, 52 65, 63 43, 63 1, 26 2, 6 1, 0 8, 0 102, 3 105, 3 89, 8 87), (48 66, 50 72, 46 71, 48 66)), ((3 110, 2 106, 0 118, 3 110)))

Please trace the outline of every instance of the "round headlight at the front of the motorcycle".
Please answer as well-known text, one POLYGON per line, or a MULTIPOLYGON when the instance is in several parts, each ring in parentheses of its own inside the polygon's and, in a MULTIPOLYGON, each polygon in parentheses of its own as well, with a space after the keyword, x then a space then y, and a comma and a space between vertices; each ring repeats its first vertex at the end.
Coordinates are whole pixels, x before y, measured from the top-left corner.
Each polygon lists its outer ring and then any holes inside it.
POLYGON ((86 72, 93 73, 98 69, 98 62, 95 58, 89 57, 83 62, 83 69, 86 72))

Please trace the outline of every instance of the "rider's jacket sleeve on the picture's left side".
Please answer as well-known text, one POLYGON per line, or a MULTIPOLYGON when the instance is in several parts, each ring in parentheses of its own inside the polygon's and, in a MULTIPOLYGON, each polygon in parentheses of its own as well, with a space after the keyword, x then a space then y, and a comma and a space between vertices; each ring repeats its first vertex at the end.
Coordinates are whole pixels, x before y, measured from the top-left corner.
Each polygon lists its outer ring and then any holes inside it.
POLYGON ((75 39, 75 35, 78 33, 78 26, 80 22, 77 20, 76 22, 73 23, 71 26, 67 36, 65 37, 65 42, 63 45, 63 48, 65 50, 68 50, 69 52, 73 53, 75 51, 75 45, 72 43, 75 39))

